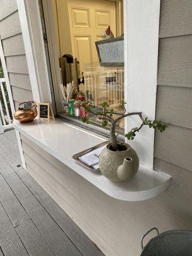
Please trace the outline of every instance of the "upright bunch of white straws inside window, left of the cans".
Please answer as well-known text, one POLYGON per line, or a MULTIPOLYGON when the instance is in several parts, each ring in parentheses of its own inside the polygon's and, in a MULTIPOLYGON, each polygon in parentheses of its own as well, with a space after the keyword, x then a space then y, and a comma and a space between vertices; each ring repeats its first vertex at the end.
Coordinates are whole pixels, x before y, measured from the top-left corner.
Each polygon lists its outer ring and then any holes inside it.
POLYGON ((60 90, 62 93, 62 105, 63 105, 63 111, 65 113, 68 112, 68 100, 71 99, 72 93, 74 91, 74 81, 72 83, 67 84, 66 86, 63 86, 63 84, 60 84, 60 90))

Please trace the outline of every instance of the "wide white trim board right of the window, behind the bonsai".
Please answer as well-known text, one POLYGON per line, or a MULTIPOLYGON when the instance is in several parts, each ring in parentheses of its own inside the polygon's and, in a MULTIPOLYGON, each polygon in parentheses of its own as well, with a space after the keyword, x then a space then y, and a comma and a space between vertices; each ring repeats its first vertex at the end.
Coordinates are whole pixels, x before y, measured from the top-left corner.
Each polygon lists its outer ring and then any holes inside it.
MULTIPOLYGON (((160 0, 124 1, 125 102, 127 111, 142 111, 150 120, 156 116, 159 15, 160 0)), ((129 117, 125 131, 138 125, 136 118, 129 117)), ((129 144, 140 163, 153 169, 154 130, 144 127, 129 144)))

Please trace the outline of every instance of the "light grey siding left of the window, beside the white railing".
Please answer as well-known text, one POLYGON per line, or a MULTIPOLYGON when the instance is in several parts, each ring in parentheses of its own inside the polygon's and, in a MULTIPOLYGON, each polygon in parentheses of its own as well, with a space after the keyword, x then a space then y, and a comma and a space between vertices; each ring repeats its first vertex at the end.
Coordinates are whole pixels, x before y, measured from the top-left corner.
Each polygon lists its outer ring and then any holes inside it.
POLYGON ((0 36, 15 108, 33 99, 16 0, 0 0, 0 36))

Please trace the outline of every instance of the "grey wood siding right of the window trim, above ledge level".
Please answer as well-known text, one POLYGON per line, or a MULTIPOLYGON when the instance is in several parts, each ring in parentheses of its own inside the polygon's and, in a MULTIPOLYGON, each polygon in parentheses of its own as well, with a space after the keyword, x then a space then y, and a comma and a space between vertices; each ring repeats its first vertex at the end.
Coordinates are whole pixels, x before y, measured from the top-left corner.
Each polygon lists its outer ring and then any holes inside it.
POLYGON ((162 0, 159 29, 156 118, 169 128, 154 155, 192 170, 192 1, 162 0))

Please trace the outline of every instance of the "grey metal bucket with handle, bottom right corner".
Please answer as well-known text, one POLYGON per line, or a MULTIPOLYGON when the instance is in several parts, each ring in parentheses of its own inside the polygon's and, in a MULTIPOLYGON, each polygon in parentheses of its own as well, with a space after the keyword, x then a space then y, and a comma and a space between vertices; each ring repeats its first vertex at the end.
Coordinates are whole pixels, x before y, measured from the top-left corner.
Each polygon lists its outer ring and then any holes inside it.
POLYGON ((141 256, 192 256, 192 231, 170 230, 159 234, 157 228, 151 228, 141 239, 141 256), (157 231, 157 236, 152 238, 143 247, 143 239, 152 230, 157 231))

